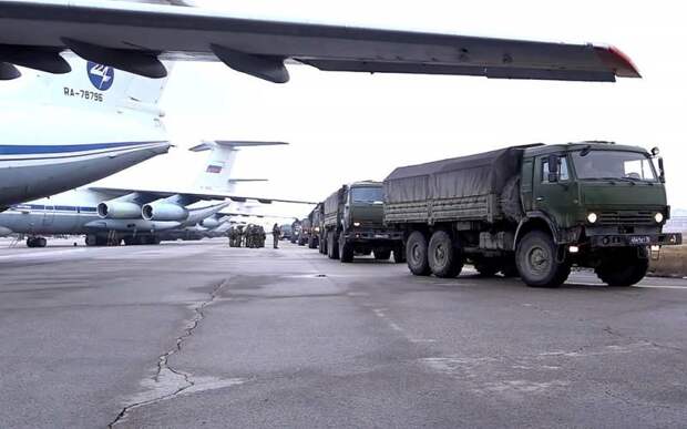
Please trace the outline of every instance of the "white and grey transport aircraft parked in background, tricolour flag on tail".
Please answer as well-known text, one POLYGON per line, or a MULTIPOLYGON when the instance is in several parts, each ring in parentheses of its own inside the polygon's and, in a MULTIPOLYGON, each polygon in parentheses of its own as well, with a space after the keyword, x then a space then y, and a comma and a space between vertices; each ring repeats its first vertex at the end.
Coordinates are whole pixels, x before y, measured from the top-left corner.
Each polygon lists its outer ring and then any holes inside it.
MULTIPOLYGON (((86 245, 158 244, 170 237, 183 237, 219 226, 214 217, 232 203, 242 213, 243 203, 256 200, 304 203, 291 200, 247 197, 235 194, 239 182, 265 181, 234 178, 232 170, 242 147, 281 145, 281 142, 208 141, 191 151, 209 151, 195 184, 187 190, 143 190, 84 187, 11 206, 0 213, 0 235, 27 235, 29 247, 44 247, 45 235, 85 235, 86 245), (221 201, 208 204, 209 201, 221 201)), ((248 215, 248 211, 243 214, 248 215)), ((174 239, 174 238, 172 238, 174 239)))

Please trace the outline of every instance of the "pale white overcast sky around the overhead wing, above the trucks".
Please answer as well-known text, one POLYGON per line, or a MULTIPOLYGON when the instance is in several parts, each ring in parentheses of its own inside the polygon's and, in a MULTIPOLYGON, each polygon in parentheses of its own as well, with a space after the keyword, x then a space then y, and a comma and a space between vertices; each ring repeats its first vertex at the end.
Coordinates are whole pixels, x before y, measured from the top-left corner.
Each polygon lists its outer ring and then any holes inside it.
MULTIPOLYGON (((290 67, 277 85, 218 63, 175 67, 162 105, 180 147, 107 184, 186 185, 201 139, 280 140, 244 151, 245 193, 322 200, 342 183, 396 166, 513 144, 611 140, 666 159, 669 203, 687 207, 685 8, 655 1, 198 1, 242 13, 493 37, 615 44, 644 75, 617 83, 320 72, 290 67), (288 7, 287 7, 288 4, 288 7), (153 182, 151 182, 153 181, 153 182)), ((305 213, 303 213, 305 214, 305 213)))

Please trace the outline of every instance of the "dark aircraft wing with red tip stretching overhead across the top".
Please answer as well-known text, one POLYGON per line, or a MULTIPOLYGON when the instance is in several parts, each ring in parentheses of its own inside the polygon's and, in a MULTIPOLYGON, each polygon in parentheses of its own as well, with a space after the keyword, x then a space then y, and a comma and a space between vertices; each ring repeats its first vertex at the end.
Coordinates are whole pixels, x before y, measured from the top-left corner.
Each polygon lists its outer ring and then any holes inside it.
POLYGON ((182 8, 93 0, 0 0, 0 79, 22 65, 69 71, 59 52, 162 78, 161 60, 222 61, 271 82, 285 62, 326 71, 461 74, 500 79, 615 81, 639 78, 606 45, 493 39, 285 21, 182 8))

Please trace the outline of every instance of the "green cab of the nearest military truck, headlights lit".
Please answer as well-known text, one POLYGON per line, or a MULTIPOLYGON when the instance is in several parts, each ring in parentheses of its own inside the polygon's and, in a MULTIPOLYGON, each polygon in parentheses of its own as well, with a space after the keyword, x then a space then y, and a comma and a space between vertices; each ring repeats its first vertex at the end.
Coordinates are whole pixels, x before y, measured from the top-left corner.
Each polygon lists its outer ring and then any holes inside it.
POLYGON ((539 272, 544 283, 551 280, 547 264, 592 267, 611 285, 642 279, 649 251, 681 243, 679 234, 663 233, 670 207, 657 155, 606 142, 527 149, 521 174, 525 217, 515 233, 519 268, 534 278, 539 272), (555 254, 541 243, 523 243, 533 231, 550 235, 555 254))

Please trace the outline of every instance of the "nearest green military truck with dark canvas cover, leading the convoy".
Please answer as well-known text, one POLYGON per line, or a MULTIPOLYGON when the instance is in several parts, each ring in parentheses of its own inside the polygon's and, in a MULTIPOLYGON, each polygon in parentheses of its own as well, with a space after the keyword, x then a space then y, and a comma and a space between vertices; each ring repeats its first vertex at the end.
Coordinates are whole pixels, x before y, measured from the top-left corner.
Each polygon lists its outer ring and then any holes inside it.
POLYGON ((571 267, 639 282, 650 253, 681 243, 658 150, 606 142, 507 147, 400 167, 383 182, 384 223, 404 234, 416 275, 485 276, 557 287, 571 267))

